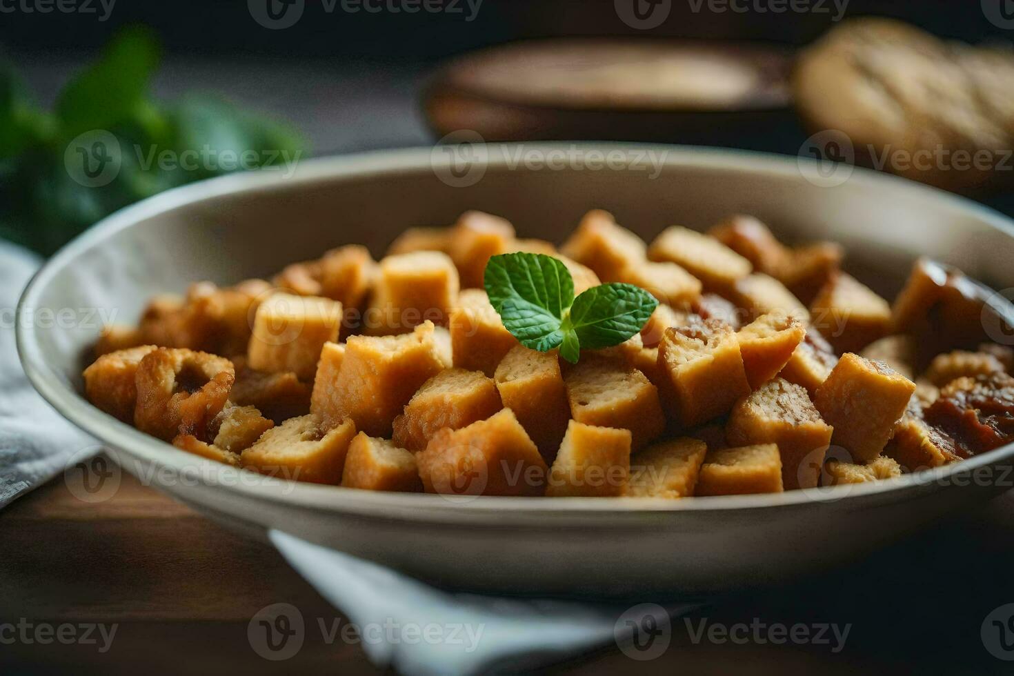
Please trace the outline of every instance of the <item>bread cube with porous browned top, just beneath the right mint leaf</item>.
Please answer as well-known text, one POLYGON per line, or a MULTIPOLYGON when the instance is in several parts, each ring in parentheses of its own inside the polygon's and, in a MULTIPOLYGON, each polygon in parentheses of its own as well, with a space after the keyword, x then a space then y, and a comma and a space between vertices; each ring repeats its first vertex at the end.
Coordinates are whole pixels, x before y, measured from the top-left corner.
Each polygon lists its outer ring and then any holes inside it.
POLYGON ((658 388, 622 362, 582 359, 568 370, 564 383, 575 421, 630 430, 633 448, 641 448, 665 428, 658 388))

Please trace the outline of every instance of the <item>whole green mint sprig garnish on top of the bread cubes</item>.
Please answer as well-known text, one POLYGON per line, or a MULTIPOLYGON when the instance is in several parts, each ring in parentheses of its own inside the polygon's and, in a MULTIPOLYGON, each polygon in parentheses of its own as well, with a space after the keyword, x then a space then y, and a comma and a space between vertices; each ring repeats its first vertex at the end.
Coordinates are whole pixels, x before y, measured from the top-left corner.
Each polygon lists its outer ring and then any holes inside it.
POLYGON ((560 354, 571 364, 581 349, 620 345, 637 333, 658 306, 632 284, 602 284, 574 297, 574 280, 559 259, 542 253, 490 258, 486 293, 511 335, 526 348, 560 354))

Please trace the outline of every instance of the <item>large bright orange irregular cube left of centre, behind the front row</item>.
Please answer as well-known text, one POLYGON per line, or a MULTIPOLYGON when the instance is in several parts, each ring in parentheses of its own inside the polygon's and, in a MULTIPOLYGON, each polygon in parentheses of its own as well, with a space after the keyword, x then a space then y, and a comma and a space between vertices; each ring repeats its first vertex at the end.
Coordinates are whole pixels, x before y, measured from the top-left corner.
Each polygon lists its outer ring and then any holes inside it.
POLYGON ((337 377, 330 386, 319 381, 310 410, 324 429, 351 419, 371 437, 387 438, 412 395, 441 370, 432 322, 402 335, 350 335, 337 377))

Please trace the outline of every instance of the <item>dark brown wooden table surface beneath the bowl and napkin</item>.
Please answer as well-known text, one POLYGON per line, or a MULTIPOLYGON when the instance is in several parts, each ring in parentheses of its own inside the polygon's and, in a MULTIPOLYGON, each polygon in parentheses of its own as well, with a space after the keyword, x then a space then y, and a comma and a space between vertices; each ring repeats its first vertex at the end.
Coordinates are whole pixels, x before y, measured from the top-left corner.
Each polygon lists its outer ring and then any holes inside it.
MULTIPOLYGON (((204 673, 377 672, 358 644, 329 643, 315 628, 287 661, 254 652, 247 624, 270 604, 296 606, 307 627, 341 618, 270 545, 230 533, 126 474, 102 502, 74 493, 61 476, 0 512, 0 673, 4 665, 16 667, 10 673, 134 674, 138 666, 146 673, 198 666, 204 673), (14 629, 5 632, 4 622, 26 624, 29 640, 11 643, 14 629), (39 625, 87 622, 117 624, 108 650, 98 650, 101 641, 30 640, 39 625)), ((1011 673, 1014 663, 986 650, 981 627, 993 609, 1014 603, 1012 571, 1008 493, 849 568, 739 593, 677 618, 657 659, 635 662, 609 646, 549 671, 1011 673), (775 646, 764 632, 742 644, 695 642, 702 621, 851 628, 835 652, 832 645, 775 646)))

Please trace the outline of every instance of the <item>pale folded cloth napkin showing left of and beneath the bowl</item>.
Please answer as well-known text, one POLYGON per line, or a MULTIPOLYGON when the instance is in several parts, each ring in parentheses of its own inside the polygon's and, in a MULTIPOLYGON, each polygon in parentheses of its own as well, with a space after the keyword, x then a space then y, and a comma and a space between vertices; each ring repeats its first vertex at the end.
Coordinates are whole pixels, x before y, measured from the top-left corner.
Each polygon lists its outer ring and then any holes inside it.
MULTIPOLYGON (((35 392, 18 361, 15 308, 38 266, 32 254, 0 241, 0 509, 99 448, 35 392)), ((533 669, 614 641, 626 646, 638 627, 658 631, 670 615, 694 607, 450 594, 286 533, 270 536, 359 628, 370 660, 413 676, 533 669)))

